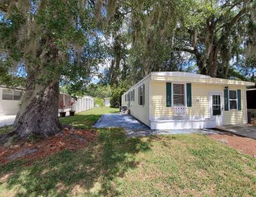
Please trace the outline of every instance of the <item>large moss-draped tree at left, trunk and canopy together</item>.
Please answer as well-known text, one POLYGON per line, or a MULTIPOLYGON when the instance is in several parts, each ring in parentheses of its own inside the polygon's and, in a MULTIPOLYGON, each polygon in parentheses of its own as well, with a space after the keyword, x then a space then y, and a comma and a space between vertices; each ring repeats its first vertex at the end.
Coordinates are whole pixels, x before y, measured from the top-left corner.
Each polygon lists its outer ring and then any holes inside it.
POLYGON ((93 1, 0 1, 1 83, 19 85, 11 81, 24 68, 26 90, 14 123, 20 138, 60 131, 59 83, 84 85, 97 72, 97 31, 93 1))

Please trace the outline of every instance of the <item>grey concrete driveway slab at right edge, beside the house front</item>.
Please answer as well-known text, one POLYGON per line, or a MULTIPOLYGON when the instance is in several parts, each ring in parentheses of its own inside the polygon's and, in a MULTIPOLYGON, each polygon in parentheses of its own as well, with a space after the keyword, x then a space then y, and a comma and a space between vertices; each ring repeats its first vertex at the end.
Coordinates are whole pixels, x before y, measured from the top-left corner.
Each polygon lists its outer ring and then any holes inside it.
POLYGON ((216 127, 216 129, 231 132, 239 136, 256 139, 256 127, 250 124, 221 125, 216 127))

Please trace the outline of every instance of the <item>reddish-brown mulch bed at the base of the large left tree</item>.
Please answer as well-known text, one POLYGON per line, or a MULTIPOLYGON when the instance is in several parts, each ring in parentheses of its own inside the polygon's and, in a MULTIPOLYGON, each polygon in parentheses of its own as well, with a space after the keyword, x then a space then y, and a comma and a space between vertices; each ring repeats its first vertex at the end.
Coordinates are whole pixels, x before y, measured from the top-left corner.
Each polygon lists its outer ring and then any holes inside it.
POLYGON ((0 146, 0 163, 4 164, 9 162, 10 159, 8 159, 8 157, 10 157, 10 155, 19 154, 19 152, 22 151, 26 152, 26 150, 33 148, 36 148, 38 151, 19 157, 19 159, 26 158, 28 161, 33 161, 48 157, 64 149, 78 150, 95 141, 97 136, 98 132, 93 130, 65 129, 56 134, 56 136, 51 136, 35 143, 17 141, 12 147, 0 146))

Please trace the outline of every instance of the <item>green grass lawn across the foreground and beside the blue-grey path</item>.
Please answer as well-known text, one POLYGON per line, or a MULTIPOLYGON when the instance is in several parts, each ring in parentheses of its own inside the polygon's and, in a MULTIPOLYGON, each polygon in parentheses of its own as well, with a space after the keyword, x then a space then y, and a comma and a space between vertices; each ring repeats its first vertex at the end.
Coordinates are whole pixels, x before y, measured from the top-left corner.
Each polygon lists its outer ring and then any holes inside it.
MULTIPOLYGON (((92 128, 96 108, 61 118, 92 128)), ((256 159, 199 134, 125 138, 122 129, 99 129, 82 150, 27 165, 0 166, 0 196, 256 196, 256 159)))

